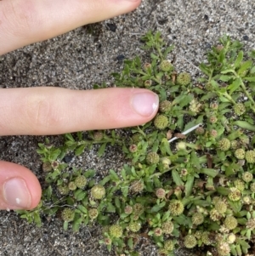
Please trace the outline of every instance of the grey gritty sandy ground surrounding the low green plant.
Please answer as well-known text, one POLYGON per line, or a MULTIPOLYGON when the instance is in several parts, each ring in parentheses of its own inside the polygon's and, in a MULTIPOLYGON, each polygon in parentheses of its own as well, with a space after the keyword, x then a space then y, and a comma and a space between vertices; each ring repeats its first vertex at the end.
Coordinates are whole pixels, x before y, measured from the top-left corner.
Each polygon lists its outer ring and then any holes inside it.
MULTIPOLYGON (((205 60, 207 49, 223 34, 241 40, 247 49, 255 48, 254 9, 253 0, 144 0, 131 14, 84 26, 0 56, 0 87, 46 85, 85 89, 103 81, 111 85, 111 72, 122 69, 117 56, 133 58, 144 54, 139 38, 150 29, 161 31, 167 42, 176 46, 177 70, 190 71, 195 79, 200 73, 198 64, 205 60), (116 31, 110 30, 112 25, 116 26, 116 31)), ((61 137, 52 139, 58 142, 61 137)), ((0 159, 31 168, 43 180, 42 162, 36 153, 37 143, 42 140, 39 136, 2 137, 0 159)), ((113 151, 108 150, 102 159, 95 151, 87 152, 74 163, 83 168, 96 168, 104 174, 109 168, 122 166, 122 156, 113 151)), ((97 242, 99 236, 96 226, 73 234, 62 230, 58 218, 43 219, 39 229, 27 225, 15 213, 0 213, 0 255, 110 255, 97 242)), ((155 247, 146 241, 140 242, 139 252, 157 255, 155 247)))

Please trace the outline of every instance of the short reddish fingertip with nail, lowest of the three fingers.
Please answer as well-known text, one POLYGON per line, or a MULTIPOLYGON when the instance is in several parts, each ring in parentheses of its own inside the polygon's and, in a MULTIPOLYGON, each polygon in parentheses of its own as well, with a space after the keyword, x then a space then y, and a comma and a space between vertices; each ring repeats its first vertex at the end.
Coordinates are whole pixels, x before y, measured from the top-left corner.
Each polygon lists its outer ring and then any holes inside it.
POLYGON ((0 161, 0 209, 32 209, 40 202, 37 177, 19 164, 0 161))

